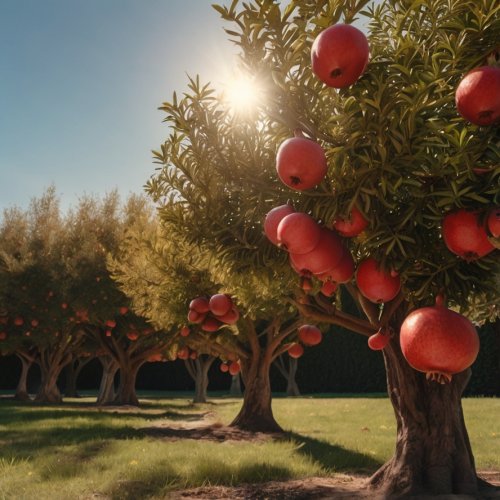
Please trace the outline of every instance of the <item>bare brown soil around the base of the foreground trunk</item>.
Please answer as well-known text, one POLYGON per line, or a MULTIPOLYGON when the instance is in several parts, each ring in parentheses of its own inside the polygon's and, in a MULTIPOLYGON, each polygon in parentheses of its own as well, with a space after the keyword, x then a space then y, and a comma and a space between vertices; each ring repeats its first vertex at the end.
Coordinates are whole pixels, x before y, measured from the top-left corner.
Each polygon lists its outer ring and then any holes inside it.
MULTIPOLYGON (((500 499, 500 471, 480 471, 479 475, 497 486, 483 496, 485 500, 500 499)), ((367 488, 367 476, 338 474, 332 478, 312 477, 293 481, 271 481, 236 487, 215 486, 193 488, 172 493, 172 500, 309 500, 309 499, 372 499, 387 497, 377 495, 367 488)), ((419 495, 414 500, 475 500, 469 495, 419 495)))

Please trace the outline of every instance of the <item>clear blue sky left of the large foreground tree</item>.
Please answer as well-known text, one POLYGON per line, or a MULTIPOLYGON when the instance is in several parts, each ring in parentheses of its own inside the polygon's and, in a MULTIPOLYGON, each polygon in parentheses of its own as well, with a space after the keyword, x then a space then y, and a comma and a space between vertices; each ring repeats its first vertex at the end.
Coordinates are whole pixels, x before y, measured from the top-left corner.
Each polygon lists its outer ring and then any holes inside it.
POLYGON ((52 183, 63 207, 141 191, 168 135, 157 108, 234 65, 211 3, 0 0, 0 210, 52 183))

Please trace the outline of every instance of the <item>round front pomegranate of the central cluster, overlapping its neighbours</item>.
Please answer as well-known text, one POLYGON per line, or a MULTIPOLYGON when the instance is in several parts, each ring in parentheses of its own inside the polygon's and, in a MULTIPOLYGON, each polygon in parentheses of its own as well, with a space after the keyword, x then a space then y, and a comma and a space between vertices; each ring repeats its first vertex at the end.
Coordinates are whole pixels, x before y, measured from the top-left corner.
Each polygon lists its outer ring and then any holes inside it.
POLYGON ((321 226, 303 212, 284 217, 278 225, 278 244, 290 253, 304 254, 314 249, 321 236, 321 226))

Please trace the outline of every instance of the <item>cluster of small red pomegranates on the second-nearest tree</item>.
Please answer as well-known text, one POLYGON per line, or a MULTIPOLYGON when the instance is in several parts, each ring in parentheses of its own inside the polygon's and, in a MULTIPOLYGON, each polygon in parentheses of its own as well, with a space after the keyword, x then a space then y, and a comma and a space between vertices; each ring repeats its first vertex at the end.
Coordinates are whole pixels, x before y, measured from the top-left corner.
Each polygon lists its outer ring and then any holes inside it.
POLYGON ((231 297, 223 293, 210 298, 196 297, 189 304, 188 321, 199 324, 205 332, 215 332, 224 324, 234 325, 239 318, 240 313, 231 297))

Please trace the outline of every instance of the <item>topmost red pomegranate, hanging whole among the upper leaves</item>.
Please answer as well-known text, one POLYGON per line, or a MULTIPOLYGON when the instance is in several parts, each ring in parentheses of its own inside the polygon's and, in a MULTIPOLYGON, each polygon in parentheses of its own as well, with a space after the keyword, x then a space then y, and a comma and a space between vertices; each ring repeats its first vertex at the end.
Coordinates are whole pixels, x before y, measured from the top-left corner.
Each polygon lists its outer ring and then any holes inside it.
POLYGON ((312 70, 329 87, 348 87, 365 71, 369 53, 363 32, 349 24, 335 24, 314 40, 312 70))

